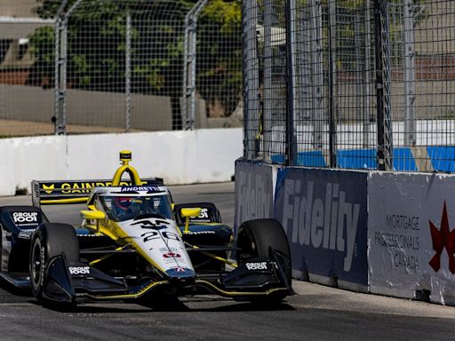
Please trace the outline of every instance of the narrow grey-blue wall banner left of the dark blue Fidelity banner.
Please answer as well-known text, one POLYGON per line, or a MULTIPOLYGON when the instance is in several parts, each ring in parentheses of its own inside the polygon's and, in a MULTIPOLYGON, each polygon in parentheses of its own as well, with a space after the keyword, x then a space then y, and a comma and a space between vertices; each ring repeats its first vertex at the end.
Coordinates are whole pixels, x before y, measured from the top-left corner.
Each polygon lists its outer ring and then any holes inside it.
POLYGON ((243 221, 274 218, 274 188, 272 166, 235 162, 235 231, 243 221))

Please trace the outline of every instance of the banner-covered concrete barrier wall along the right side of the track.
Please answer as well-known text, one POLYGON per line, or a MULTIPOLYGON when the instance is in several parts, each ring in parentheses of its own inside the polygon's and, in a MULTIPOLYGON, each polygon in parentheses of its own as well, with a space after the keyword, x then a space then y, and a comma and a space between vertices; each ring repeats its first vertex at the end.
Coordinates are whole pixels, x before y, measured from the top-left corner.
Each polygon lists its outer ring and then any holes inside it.
POLYGON ((294 278, 455 305, 455 176, 243 160, 235 174, 242 175, 235 178, 236 225, 277 218, 290 242, 294 278), (272 192, 273 211, 263 210, 272 192))

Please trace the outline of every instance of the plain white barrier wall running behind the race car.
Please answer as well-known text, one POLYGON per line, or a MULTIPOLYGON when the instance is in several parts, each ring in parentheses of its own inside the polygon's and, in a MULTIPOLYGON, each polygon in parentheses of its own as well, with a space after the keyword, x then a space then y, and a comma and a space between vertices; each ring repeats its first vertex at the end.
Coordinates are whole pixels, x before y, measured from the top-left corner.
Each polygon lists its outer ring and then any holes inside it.
POLYGON ((242 129, 0 139, 0 195, 13 195, 33 179, 112 178, 118 152, 132 151, 141 178, 169 185, 230 181, 243 154, 242 129))

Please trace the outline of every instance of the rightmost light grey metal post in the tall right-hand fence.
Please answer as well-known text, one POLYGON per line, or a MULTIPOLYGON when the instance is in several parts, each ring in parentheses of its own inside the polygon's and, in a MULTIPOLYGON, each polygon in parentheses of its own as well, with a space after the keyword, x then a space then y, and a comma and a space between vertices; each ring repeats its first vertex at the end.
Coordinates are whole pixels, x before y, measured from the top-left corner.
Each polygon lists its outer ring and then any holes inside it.
POLYGON ((415 108, 415 53, 414 53, 414 6, 412 0, 404 4, 404 144, 416 144, 416 108, 415 108))

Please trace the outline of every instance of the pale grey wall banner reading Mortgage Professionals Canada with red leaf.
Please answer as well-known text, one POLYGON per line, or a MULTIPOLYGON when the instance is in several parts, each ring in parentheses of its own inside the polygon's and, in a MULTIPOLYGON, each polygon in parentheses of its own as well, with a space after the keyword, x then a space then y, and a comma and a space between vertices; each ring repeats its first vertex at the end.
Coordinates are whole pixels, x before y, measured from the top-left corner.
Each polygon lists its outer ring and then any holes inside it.
POLYGON ((455 178, 371 172, 371 292, 432 301, 455 300, 455 178))

